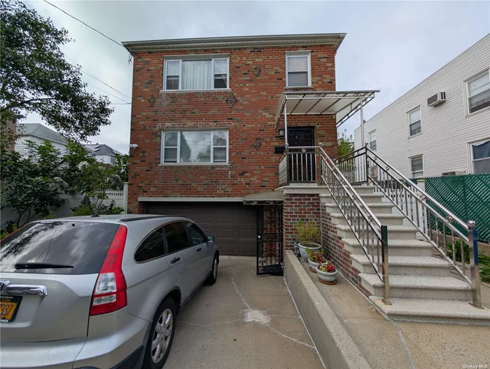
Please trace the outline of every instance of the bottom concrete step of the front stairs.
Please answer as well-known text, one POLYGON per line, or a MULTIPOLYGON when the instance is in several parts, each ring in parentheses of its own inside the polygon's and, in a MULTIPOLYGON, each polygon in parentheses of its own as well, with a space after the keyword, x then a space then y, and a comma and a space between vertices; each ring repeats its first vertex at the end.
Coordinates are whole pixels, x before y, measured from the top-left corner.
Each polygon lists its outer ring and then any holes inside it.
POLYGON ((370 300, 374 307, 388 319, 490 326, 490 310, 477 309, 468 301, 391 298, 391 305, 386 305, 377 296, 371 296, 370 300))

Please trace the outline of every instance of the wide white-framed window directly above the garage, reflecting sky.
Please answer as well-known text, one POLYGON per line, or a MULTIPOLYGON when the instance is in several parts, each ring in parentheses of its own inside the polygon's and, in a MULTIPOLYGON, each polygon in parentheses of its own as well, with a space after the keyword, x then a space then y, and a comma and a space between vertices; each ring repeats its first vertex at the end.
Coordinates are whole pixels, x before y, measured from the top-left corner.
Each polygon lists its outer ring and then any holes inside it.
POLYGON ((162 131, 162 163, 227 163, 227 130, 162 131))

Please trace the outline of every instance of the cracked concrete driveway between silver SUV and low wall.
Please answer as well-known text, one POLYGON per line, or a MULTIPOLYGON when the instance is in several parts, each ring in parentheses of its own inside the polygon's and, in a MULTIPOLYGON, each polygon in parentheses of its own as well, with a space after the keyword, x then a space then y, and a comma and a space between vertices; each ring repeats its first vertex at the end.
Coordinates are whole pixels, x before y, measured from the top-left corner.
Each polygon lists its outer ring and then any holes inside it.
POLYGON ((183 307, 164 368, 323 366, 283 277, 256 276, 255 258, 237 256, 222 258, 216 284, 183 307))

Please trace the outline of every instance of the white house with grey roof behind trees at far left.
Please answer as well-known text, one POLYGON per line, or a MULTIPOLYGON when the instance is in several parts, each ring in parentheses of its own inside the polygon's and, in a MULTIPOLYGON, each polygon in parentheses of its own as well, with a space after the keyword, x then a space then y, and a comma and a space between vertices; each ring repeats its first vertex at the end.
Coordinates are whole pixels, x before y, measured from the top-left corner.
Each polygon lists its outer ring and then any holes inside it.
POLYGON ((18 139, 15 141, 14 150, 24 158, 29 155, 26 144, 27 140, 34 141, 38 145, 44 141, 50 141, 52 146, 55 146, 61 152, 61 155, 66 153, 66 145, 68 144, 66 139, 61 134, 41 123, 18 123, 17 135, 18 139))

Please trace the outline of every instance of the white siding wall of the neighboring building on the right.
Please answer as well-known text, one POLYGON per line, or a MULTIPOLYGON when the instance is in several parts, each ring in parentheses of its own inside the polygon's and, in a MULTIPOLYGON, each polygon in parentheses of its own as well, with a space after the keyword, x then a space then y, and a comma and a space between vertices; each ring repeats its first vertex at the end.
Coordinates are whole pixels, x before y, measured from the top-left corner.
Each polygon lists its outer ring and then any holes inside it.
MULTIPOLYGON (((490 34, 368 120, 365 142, 376 130, 377 155, 406 176, 412 176, 409 158, 416 155, 423 155, 424 176, 472 172, 468 143, 490 138, 490 108, 468 116, 464 81, 489 67, 490 34), (437 92, 446 92, 447 101, 427 106, 427 98, 437 92), (409 137, 407 112, 417 106, 422 133, 409 137)), ((354 144, 361 146, 360 127, 354 131, 354 144)))

